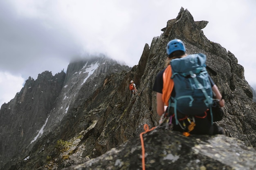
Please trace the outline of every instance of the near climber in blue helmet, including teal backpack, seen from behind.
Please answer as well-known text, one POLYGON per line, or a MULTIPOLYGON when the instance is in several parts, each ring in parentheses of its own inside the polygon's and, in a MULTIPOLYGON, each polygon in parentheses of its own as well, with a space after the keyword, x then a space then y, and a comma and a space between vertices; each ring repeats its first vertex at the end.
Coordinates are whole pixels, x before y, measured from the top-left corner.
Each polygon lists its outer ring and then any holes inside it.
POLYGON ((172 129, 185 136, 223 134, 223 129, 213 124, 213 115, 209 112, 213 98, 220 107, 225 102, 207 73, 206 56, 202 53, 187 55, 184 43, 178 39, 168 42, 166 52, 167 67, 157 74, 153 86, 153 91, 157 92, 157 114, 169 116, 172 129))

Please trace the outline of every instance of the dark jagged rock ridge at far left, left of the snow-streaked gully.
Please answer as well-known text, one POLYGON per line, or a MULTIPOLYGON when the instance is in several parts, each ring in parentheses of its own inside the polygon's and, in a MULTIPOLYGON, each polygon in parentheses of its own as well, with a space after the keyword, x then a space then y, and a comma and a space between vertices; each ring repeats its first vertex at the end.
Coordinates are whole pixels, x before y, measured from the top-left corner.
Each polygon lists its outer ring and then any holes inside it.
MULTIPOLYGON (((65 73, 54 76, 49 71, 38 74, 38 79, 27 79, 20 93, 0 110, 0 160, 6 163, 13 157, 24 159, 29 144, 45 124, 61 92, 65 73)), ((15 159, 14 159, 15 160, 15 159)), ((1 166, 0 166, 1 168, 1 166)))

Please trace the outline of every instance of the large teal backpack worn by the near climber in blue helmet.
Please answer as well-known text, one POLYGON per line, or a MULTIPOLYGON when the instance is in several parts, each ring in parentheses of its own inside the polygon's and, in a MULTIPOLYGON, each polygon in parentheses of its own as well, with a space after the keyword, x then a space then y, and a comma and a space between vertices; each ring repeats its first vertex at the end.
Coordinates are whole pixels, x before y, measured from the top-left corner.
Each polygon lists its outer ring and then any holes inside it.
POLYGON ((171 60, 175 96, 170 97, 169 106, 173 107, 176 124, 177 112, 184 115, 199 115, 210 110, 213 93, 209 75, 206 70, 206 55, 202 53, 187 55, 171 60))

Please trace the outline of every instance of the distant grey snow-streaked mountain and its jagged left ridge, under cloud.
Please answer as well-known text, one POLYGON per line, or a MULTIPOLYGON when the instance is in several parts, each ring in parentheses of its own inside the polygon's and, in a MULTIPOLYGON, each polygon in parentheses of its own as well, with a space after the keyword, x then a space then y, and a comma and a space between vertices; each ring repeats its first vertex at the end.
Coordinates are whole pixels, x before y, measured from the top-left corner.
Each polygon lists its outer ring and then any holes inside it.
MULTIPOLYGON (((92 56, 71 62, 67 74, 52 76, 45 71, 36 80, 29 77, 20 93, 0 110, 0 137, 4 139, 0 168, 6 164, 2 168, 6 170, 15 161, 31 159, 33 152, 43 152, 44 146, 54 146, 62 133, 67 135, 67 123, 74 124, 76 115, 70 110, 103 86, 108 75, 128 70, 105 56, 92 56)), ((72 128, 80 132, 88 124, 72 128)))

